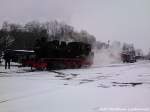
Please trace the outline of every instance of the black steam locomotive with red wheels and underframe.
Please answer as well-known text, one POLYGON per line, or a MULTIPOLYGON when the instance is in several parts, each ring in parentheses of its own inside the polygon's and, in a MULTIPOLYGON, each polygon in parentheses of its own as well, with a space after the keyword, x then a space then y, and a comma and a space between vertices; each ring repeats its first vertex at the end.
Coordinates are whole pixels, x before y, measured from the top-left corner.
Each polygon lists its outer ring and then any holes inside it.
POLYGON ((34 55, 22 61, 23 66, 36 69, 66 69, 90 66, 94 53, 90 44, 83 42, 38 41, 34 55))

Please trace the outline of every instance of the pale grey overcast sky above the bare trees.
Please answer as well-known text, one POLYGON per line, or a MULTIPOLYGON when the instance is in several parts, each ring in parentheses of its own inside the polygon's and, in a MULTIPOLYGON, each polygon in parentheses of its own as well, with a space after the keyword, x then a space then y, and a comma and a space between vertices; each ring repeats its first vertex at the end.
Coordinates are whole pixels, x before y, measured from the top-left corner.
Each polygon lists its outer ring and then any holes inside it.
POLYGON ((0 24, 55 19, 103 42, 150 48, 150 0, 0 0, 0 24))

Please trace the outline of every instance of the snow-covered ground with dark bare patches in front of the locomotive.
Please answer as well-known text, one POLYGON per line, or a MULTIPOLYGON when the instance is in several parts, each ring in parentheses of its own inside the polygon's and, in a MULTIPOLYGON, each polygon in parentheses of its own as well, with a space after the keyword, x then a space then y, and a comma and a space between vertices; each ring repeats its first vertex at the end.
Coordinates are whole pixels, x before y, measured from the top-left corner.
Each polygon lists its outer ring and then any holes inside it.
POLYGON ((150 112, 150 62, 30 71, 0 66, 0 112, 150 112))

